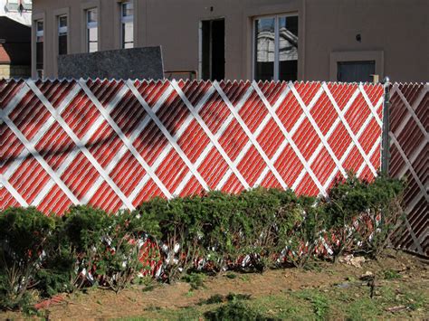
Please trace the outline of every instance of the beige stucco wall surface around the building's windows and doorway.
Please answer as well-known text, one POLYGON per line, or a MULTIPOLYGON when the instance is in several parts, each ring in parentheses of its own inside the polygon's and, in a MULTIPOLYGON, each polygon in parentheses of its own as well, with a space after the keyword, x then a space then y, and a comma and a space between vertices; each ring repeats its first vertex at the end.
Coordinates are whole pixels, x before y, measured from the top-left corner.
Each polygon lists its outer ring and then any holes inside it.
MULTIPOLYGON (((34 0, 45 21, 45 75, 56 75, 56 18, 70 16, 70 53, 84 52, 83 10, 100 10, 100 50, 119 48, 118 0, 34 0)), ((299 79, 335 80, 338 60, 377 61, 380 77, 429 79, 427 0, 134 0, 135 43, 161 45, 166 70, 198 70, 201 20, 225 19, 225 78, 252 78, 252 21, 262 14, 300 17, 299 79), (211 7, 213 6, 213 11, 211 7), (357 33, 362 41, 356 40, 357 33), (361 57, 361 58, 360 58, 361 57)), ((33 32, 34 33, 34 32, 33 32)), ((34 34, 33 34, 34 35, 34 34)), ((34 71, 33 71, 34 72, 34 71)), ((33 73, 34 75, 34 73, 33 73)))

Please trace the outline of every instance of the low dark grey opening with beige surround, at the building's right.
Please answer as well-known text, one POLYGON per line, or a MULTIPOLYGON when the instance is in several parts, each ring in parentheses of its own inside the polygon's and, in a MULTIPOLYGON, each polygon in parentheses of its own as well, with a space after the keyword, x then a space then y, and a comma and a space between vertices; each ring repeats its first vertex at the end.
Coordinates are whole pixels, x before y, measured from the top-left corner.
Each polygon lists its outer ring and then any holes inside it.
POLYGON ((337 80, 343 82, 372 81, 376 73, 376 61, 338 62, 337 80))

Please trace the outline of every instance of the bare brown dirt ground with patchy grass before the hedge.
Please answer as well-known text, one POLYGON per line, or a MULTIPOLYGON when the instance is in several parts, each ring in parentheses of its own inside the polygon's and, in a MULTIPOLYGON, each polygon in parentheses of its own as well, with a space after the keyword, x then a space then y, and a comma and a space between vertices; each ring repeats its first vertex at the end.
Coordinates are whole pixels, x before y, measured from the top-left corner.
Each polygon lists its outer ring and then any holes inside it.
MULTIPOLYGON (((152 282, 118 294, 94 288, 64 295, 61 303, 40 310, 36 317, 201 319, 206 311, 223 304, 205 300, 240 294, 247 295, 249 307, 276 318, 429 318, 427 262, 389 250, 379 260, 354 263, 357 266, 316 262, 311 269, 277 269, 263 274, 226 272, 206 277, 196 289, 186 282, 152 282), (362 280, 366 274, 375 276, 374 287, 362 280)), ((0 313, 1 319, 26 317, 17 312, 0 313)))

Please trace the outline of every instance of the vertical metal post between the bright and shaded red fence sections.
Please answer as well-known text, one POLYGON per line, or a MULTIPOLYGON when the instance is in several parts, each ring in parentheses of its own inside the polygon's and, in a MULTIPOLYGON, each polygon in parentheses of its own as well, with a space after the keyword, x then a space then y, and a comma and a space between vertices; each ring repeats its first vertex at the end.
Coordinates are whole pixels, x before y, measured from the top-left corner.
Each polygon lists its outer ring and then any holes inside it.
POLYGON ((390 159, 390 80, 388 77, 385 77, 383 80, 384 90, 385 90, 385 99, 383 101, 383 134, 382 134, 382 143, 381 143, 381 172, 384 175, 389 174, 389 159, 390 159))

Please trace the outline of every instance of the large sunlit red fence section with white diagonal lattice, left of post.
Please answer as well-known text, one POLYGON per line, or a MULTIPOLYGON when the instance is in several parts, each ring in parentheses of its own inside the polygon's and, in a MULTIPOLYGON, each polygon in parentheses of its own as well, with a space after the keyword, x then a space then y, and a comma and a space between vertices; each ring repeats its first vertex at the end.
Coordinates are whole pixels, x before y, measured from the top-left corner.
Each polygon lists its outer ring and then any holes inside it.
POLYGON ((371 84, 0 80, 0 209, 326 194, 348 171, 377 175, 382 102, 371 84))

